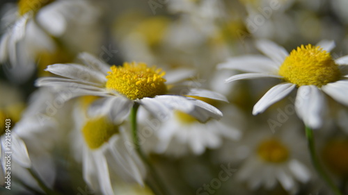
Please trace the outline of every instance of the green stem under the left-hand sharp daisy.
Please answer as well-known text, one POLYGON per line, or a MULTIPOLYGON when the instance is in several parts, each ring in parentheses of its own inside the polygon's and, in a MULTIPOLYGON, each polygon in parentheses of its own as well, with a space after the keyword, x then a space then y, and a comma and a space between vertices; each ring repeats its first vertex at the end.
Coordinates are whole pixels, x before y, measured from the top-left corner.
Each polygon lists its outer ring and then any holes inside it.
POLYGON ((133 136, 133 142, 134 146, 136 148, 136 152, 139 154, 141 160, 148 166, 148 169, 150 170, 150 173, 152 175, 152 179, 157 184, 157 187, 155 185, 152 185, 151 183, 148 183, 148 186, 152 189, 152 191, 155 194, 168 194, 166 189, 164 188, 164 184, 161 182, 161 179, 159 178, 157 171, 155 170, 155 167, 152 166, 150 160, 148 160, 147 156, 143 151, 141 150, 141 146, 139 143, 139 136, 138 136, 138 127, 136 122, 136 113, 138 112, 139 104, 134 103, 133 108, 131 110, 131 113, 129 115, 131 126, 132 126, 132 136, 133 136))

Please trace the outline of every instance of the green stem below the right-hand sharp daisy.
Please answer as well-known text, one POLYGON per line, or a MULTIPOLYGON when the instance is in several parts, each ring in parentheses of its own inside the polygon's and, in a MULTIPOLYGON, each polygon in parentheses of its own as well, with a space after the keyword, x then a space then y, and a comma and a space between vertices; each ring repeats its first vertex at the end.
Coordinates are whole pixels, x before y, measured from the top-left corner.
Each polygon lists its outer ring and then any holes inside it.
POLYGON ((317 154, 315 153, 315 144, 314 144, 314 136, 313 136, 313 130, 306 126, 306 137, 308 140, 308 148, 310 151, 310 158, 312 159, 313 165, 317 172, 319 173, 319 176, 322 177, 322 179, 326 182, 327 185, 331 188, 333 193, 335 195, 342 195, 338 187, 333 183, 331 178, 329 178, 328 174, 324 171, 322 164, 320 164, 319 159, 317 157, 317 154))

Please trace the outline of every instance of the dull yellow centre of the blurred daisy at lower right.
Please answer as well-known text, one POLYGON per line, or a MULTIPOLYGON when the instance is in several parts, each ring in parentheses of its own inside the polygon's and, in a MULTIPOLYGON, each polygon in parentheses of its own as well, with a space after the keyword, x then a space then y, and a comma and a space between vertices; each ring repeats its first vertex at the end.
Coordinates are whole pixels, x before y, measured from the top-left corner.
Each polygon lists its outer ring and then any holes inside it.
POLYGON ((259 144, 258 155, 266 162, 279 163, 289 158, 289 151, 277 139, 267 139, 259 144))

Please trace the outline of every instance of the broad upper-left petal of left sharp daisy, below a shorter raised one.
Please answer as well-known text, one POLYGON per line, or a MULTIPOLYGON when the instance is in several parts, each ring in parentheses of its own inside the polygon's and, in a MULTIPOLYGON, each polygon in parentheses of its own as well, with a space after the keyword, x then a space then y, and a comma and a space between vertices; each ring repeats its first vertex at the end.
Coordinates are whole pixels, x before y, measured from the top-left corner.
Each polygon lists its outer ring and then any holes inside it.
POLYGON ((73 78, 76 80, 86 81, 90 83, 105 83, 106 75, 100 72, 93 71, 88 67, 77 64, 55 64, 47 66, 45 71, 50 71, 53 74, 73 78))

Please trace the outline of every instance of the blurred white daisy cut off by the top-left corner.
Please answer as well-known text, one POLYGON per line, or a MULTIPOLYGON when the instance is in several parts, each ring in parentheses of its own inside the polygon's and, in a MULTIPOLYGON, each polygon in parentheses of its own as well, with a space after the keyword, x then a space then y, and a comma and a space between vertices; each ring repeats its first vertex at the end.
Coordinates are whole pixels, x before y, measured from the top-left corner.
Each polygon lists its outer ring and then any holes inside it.
MULTIPOLYGON (((90 47, 81 40, 86 40, 86 34, 96 34, 95 31, 81 33, 81 30, 85 32, 86 26, 93 26, 97 15, 88 1, 21 0, 17 6, 8 4, 3 17, 5 32, 1 37, 0 62, 9 63, 5 67, 9 78, 25 81, 33 74, 41 54, 54 55, 62 46, 66 46, 65 55, 81 49, 77 48, 81 43, 84 51, 88 51, 90 47)), ((90 40, 88 44, 95 43, 96 38, 90 40)))

